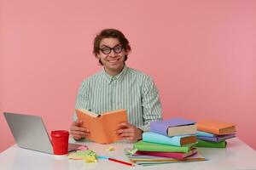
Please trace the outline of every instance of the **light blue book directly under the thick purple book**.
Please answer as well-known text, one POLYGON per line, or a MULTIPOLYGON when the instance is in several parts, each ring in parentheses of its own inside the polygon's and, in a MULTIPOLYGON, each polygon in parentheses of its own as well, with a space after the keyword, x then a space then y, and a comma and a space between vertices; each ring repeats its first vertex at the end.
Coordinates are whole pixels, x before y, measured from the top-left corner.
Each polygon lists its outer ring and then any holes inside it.
POLYGON ((183 146, 187 144, 195 144, 195 135, 182 135, 182 136, 165 136, 159 133, 143 133, 143 141, 155 144, 169 144, 175 146, 183 146))

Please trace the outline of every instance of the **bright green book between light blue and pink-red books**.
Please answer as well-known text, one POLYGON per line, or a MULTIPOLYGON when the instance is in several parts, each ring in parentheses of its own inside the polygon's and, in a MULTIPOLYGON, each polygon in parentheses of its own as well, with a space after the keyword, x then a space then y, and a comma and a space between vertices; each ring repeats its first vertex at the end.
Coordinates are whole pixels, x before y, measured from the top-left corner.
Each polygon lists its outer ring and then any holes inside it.
POLYGON ((174 146, 169 144, 155 144, 143 140, 133 144, 134 148, 140 151, 161 151, 161 152, 188 152, 192 146, 174 146))

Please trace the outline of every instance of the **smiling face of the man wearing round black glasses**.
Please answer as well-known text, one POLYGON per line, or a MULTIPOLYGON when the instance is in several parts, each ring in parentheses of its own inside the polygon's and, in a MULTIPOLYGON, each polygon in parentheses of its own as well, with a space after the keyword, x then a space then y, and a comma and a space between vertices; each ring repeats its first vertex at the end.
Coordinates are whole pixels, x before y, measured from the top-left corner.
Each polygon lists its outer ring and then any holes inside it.
POLYGON ((117 75, 125 65, 125 48, 122 47, 117 38, 103 38, 100 43, 100 53, 97 59, 101 59, 105 71, 110 75, 117 75))

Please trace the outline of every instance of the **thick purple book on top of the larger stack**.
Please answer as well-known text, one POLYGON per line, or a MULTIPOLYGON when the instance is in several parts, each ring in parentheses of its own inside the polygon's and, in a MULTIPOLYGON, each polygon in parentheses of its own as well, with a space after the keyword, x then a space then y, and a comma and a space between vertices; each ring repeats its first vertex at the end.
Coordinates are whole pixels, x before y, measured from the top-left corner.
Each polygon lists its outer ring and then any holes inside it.
POLYGON ((195 122, 183 118, 172 118, 165 121, 150 122, 150 131, 154 133, 160 133, 166 136, 172 136, 169 132, 170 128, 177 131, 175 135, 196 133, 195 122), (187 128, 180 128, 187 127, 187 128), (193 129, 192 129, 193 127, 193 129), (191 129, 191 131, 190 131, 191 129), (185 132, 186 131, 186 132, 185 132))

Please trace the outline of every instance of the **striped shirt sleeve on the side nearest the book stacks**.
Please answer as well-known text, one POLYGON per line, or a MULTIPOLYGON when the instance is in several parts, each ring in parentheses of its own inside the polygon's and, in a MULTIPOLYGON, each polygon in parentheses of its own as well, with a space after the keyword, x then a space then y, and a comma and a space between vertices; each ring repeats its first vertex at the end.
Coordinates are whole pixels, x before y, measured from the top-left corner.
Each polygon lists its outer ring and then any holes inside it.
POLYGON ((150 130, 150 122, 162 120, 162 110, 160 105, 160 97, 153 80, 148 77, 143 86, 143 126, 138 127, 143 132, 150 130))

